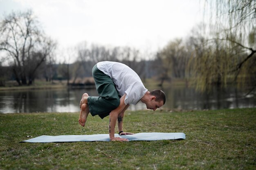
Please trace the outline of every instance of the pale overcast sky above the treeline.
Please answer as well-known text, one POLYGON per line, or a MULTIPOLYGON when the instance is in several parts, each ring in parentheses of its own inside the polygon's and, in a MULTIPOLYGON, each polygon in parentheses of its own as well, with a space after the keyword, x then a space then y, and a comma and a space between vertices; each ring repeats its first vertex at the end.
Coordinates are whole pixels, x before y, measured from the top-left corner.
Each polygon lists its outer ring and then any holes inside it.
MULTIPOLYGON (((32 9, 57 55, 82 42, 157 51, 202 21, 199 0, 0 0, 0 19, 32 9)), ((201 5, 202 6, 202 5, 201 5)))

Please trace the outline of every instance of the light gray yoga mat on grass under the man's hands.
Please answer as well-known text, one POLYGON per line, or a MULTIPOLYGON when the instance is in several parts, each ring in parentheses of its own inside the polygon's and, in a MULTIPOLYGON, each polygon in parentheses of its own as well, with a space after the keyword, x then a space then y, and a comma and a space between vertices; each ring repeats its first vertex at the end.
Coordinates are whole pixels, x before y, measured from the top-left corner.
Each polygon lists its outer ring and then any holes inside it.
MULTIPOLYGON (((171 139, 186 139, 184 133, 137 133, 131 135, 115 134, 115 137, 126 138, 129 141, 157 141, 171 139)), ((49 142, 91 142, 91 141, 110 141, 109 134, 91 134, 91 135, 60 135, 60 136, 38 136, 22 142, 30 143, 49 143, 49 142)))

